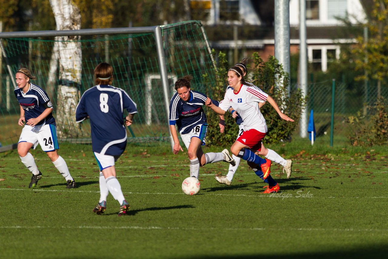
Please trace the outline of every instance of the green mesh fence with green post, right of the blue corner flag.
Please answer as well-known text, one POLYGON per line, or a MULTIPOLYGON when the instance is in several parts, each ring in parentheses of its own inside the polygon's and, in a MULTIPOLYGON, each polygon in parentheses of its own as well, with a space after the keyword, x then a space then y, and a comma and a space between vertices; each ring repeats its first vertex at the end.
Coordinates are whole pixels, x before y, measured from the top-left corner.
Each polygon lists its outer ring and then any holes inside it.
MULTIPOLYGON (((334 144, 350 144, 349 136, 354 129, 347 122, 348 117, 356 116, 358 112, 361 112, 368 118, 370 114, 365 106, 373 106, 378 96, 388 99, 388 86, 382 85, 381 89, 378 90, 376 82, 367 85, 364 85, 364 82, 352 85, 335 82, 334 88, 334 106, 332 106, 333 80, 312 83, 308 86, 306 123, 308 123, 310 111, 314 110, 314 123, 317 134, 315 143, 329 145, 332 137, 334 144), (334 118, 333 132, 331 131, 332 111, 334 118)), ((300 126, 296 132, 298 134, 301 133, 300 129, 307 128, 306 125, 304 125, 305 127, 300 126)), ((309 141, 309 139, 305 138, 305 141, 309 141)))

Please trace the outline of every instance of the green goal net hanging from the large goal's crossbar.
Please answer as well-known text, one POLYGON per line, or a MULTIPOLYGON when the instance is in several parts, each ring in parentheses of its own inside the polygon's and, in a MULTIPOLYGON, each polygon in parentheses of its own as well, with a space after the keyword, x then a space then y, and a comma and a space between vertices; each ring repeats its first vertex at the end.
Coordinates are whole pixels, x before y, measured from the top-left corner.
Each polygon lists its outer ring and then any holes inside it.
POLYGON ((175 81, 188 74, 193 76, 192 89, 205 92, 203 75, 215 80, 206 33, 199 21, 127 29, 133 32, 99 29, 72 31, 68 37, 39 32, 30 32, 28 37, 0 35, 0 143, 17 143, 22 130, 17 125, 20 108, 14 96, 14 76, 21 67, 38 78, 33 83, 45 89, 54 104, 59 139, 90 143, 90 124, 74 123, 74 110, 83 92, 94 86, 93 70, 100 62, 114 67, 112 85, 125 89, 137 103, 139 112, 128 128, 128 142, 170 142, 163 73, 168 101, 175 81))

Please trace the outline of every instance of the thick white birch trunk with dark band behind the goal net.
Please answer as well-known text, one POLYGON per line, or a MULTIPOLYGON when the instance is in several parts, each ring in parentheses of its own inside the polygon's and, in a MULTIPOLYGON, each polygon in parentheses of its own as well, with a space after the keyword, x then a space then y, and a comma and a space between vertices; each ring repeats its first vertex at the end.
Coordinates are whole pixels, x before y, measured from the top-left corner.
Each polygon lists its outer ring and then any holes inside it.
MULTIPOLYGON (((57 30, 80 30, 81 12, 71 0, 50 0, 57 30)), ((57 37, 59 78, 55 120, 59 138, 78 137, 79 123, 75 122, 78 89, 81 83, 82 53, 79 36, 57 37)))

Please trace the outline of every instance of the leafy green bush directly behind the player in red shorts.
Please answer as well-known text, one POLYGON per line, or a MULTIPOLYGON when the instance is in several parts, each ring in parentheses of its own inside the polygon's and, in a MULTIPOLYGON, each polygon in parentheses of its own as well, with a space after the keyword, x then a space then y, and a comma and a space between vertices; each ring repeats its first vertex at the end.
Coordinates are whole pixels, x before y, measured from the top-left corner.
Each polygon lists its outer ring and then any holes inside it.
MULTIPOLYGON (((214 51, 213 51, 214 55, 214 51)), ((222 100, 225 95, 227 86, 226 75, 229 69, 225 54, 220 52, 218 54, 217 66, 217 83, 210 85, 210 78, 204 75, 205 81, 208 83, 208 95, 215 100, 222 100)), ((270 104, 265 104, 260 110, 267 121, 268 133, 265 138, 265 143, 280 143, 282 141, 289 141, 291 134, 294 132, 297 122, 300 120, 301 110, 305 107, 305 99, 303 98, 299 89, 291 90, 288 95, 287 87, 289 85, 289 76, 283 70, 283 67, 275 57, 270 57, 267 62, 258 55, 253 53, 253 66, 249 68, 251 75, 249 78, 255 78, 253 84, 260 87, 264 92, 269 94, 277 102, 279 107, 283 107, 284 113, 295 122, 286 122, 280 118, 277 112, 270 104)), ((281 108, 282 109, 282 108, 281 108)), ((229 112, 225 113, 225 131, 220 133, 218 127, 219 116, 210 109, 206 110, 208 123, 207 143, 209 145, 225 146, 225 143, 232 144, 237 137, 238 126, 235 119, 232 118, 229 112)))

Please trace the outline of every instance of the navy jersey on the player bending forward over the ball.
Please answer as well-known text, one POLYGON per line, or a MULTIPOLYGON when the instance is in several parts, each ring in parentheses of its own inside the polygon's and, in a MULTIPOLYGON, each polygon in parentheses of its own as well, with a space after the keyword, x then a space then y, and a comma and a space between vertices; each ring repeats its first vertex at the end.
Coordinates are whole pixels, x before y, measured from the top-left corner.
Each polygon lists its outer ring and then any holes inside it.
MULTIPOLYGON (((208 96, 201 92, 190 90, 190 100, 183 101, 176 92, 170 102, 170 125, 176 122, 180 134, 189 133, 196 125, 206 123, 206 115, 202 109, 208 96)), ((218 101, 211 100, 213 104, 218 101)))

